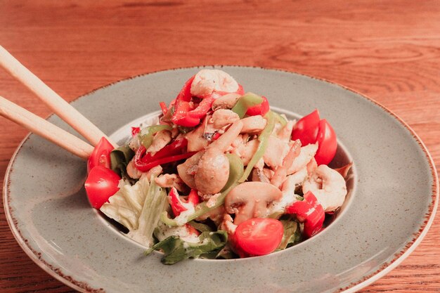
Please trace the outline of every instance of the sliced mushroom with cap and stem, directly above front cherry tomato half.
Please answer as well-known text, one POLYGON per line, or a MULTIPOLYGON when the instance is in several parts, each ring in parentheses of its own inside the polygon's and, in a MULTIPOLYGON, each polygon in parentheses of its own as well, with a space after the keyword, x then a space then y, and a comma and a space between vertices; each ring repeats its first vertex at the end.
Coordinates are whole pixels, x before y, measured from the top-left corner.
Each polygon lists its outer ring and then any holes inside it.
POLYGON ((266 215, 268 205, 282 196, 281 190, 270 183, 249 181, 235 186, 226 195, 225 208, 229 214, 235 214, 234 223, 239 225, 266 215))

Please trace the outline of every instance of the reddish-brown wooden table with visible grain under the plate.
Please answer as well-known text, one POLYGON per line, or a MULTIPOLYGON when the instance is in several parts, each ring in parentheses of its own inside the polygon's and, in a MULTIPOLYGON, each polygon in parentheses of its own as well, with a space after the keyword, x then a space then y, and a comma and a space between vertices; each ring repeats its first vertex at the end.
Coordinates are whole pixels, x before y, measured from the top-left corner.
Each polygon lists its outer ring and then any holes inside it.
MULTIPOLYGON (((440 1, 0 1, 0 44, 66 100, 136 74, 250 65, 365 93, 440 167, 440 1)), ((0 95, 49 110, 0 70, 0 95)), ((0 178, 27 131, 0 118, 0 178)), ((440 219, 362 292, 440 292, 440 219)), ((71 292, 22 252, 0 211, 0 292, 71 292)))

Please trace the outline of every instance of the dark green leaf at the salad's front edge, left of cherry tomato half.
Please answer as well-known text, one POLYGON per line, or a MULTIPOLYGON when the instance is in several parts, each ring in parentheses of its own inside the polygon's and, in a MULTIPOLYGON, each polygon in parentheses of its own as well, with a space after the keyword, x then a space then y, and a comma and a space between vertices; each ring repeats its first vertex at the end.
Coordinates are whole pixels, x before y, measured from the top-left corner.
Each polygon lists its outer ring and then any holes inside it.
POLYGON ((158 242, 145 252, 145 256, 153 250, 162 250, 164 257, 162 263, 174 264, 190 257, 209 257, 217 254, 228 241, 226 231, 203 232, 199 236, 198 243, 185 242, 179 236, 169 236, 165 240, 158 242))

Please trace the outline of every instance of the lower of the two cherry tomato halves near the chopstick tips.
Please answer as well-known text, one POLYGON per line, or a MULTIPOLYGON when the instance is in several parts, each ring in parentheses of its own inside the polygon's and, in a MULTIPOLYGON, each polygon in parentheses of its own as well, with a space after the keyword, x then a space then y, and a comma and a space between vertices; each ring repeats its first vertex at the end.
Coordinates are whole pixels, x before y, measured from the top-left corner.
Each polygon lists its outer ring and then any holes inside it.
POLYGON ((91 169, 84 183, 91 206, 100 209, 105 202, 108 202, 108 198, 119 190, 117 185, 120 179, 114 171, 103 166, 91 169))

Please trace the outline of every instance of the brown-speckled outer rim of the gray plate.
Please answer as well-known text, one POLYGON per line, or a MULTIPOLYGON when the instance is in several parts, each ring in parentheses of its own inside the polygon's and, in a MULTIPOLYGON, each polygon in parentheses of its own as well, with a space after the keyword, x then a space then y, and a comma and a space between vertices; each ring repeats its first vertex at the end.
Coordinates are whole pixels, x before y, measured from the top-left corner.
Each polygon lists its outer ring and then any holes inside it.
MULTIPOLYGON (((329 84, 330 86, 338 86, 339 88, 345 89, 347 91, 350 91, 351 93, 356 94, 356 96, 359 96, 360 98, 364 98, 365 100, 370 101, 371 103, 377 105, 381 110, 384 112, 387 112, 388 115, 394 117, 402 126, 406 128, 406 130, 409 131, 411 136, 415 139, 415 141, 418 143, 420 149, 424 152, 425 157, 427 159, 427 162, 429 164, 429 169, 431 171, 431 176, 433 179, 432 186, 431 186, 431 202, 429 203, 428 207, 428 213, 425 214, 425 221, 423 221, 422 226, 419 227, 419 230, 417 233, 413 233, 413 239, 406 243, 406 245, 403 247, 403 249, 400 252, 397 252, 393 254, 394 259, 387 263, 382 263, 382 266, 375 272, 370 273, 369 275, 365 276, 361 280, 358 280, 357 282, 351 282, 349 286, 344 288, 339 288, 336 292, 344 292, 344 293, 351 293, 356 292, 359 289, 362 289, 364 287, 367 287, 368 285, 372 284, 373 282, 379 280, 384 275, 387 275, 390 271, 392 271, 396 266, 399 266, 399 264, 406 259, 418 245, 420 245, 420 242, 425 238, 427 235, 429 228, 432 226, 432 223, 434 221, 436 210, 438 208, 439 204, 439 177, 436 171, 436 167, 434 164, 434 160, 432 159, 431 154, 429 153, 429 150, 427 149, 425 143, 423 143, 422 139, 416 134, 416 132, 405 122, 399 115, 396 115, 392 110, 389 110, 381 103, 377 102, 375 99, 370 98, 369 96, 365 95, 364 93, 361 93, 359 91, 356 91, 354 89, 351 89, 349 86, 344 86, 343 84, 339 84, 337 82, 332 82, 329 79, 325 79, 322 77, 314 77, 309 74, 299 73, 295 71, 289 71, 289 70, 283 70, 280 68, 274 68, 274 67, 259 67, 259 66, 244 66, 244 65, 197 65, 197 66, 190 66, 190 67, 173 67, 163 70, 155 70, 151 72, 146 72, 142 74, 136 74, 134 76, 130 76, 124 79, 119 79, 115 82, 110 82, 109 84, 105 84, 103 86, 98 86, 96 89, 92 89, 91 91, 88 91, 81 96, 78 96, 77 98, 74 98, 70 100, 69 103, 73 103, 81 98, 84 98, 86 96, 91 95, 92 93, 99 91, 101 89, 108 88, 110 86, 113 86, 115 84, 118 84, 119 82, 126 82, 131 79, 136 79, 138 77, 145 77, 150 74, 156 74, 160 72, 170 72, 175 70, 191 70, 191 69, 198 69, 198 68, 218 68, 221 69, 223 67, 240 67, 240 68, 250 68, 250 69, 257 69, 257 70, 268 70, 268 71, 278 71, 278 72, 284 72, 288 74, 297 74, 302 77, 308 77, 310 79, 315 79, 320 82, 325 82, 326 84, 329 84)), ((48 115, 45 119, 51 118, 54 113, 51 113, 48 115)), ((13 234, 13 237, 18 242, 18 245, 22 248, 22 250, 27 254, 27 256, 34 261, 34 263, 37 264, 40 268, 42 268, 46 273, 51 275, 53 278, 56 278, 60 282, 63 282, 63 284, 72 287, 72 289, 76 289, 79 292, 104 292, 105 290, 103 288, 92 288, 87 282, 78 281, 75 280, 74 276, 70 275, 64 275, 63 271, 60 268, 53 268, 53 266, 50 263, 47 263, 42 257, 41 254, 35 252, 32 247, 27 245, 27 240, 22 237, 20 230, 15 226, 17 220, 13 218, 12 216, 12 210, 9 205, 10 201, 10 193, 9 186, 11 185, 11 179, 9 178, 11 171, 13 169, 13 164, 15 162, 15 159, 17 155, 19 154, 20 150, 22 150, 22 145, 26 143, 26 141, 30 138, 31 135, 35 135, 32 133, 28 133, 25 138, 22 139, 22 141, 19 143, 18 147, 13 152, 13 155, 8 163, 8 167, 6 168, 5 176, 4 176, 4 184, 3 184, 3 202, 4 202, 4 211, 6 220, 8 222, 8 226, 11 230, 11 233, 13 234)))

